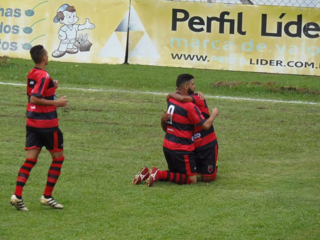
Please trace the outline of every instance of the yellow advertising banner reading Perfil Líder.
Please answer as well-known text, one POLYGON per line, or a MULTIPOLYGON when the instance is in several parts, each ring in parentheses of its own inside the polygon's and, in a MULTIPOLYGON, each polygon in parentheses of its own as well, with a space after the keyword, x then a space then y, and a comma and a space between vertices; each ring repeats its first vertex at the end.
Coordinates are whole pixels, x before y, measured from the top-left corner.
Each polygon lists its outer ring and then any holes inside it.
POLYGON ((320 9, 131 0, 128 62, 320 76, 320 9))

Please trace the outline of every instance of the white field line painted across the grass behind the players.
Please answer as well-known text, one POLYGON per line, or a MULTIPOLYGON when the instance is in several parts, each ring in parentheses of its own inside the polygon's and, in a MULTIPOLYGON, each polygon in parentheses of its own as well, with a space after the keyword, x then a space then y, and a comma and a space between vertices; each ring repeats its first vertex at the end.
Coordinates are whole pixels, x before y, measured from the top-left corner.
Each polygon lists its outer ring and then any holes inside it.
MULTIPOLYGON (((13 86, 26 86, 26 84, 20 83, 3 83, 2 85, 13 85, 13 86)), ((153 95, 167 95, 164 92, 142 92, 142 91, 128 91, 118 89, 95 89, 95 88, 76 88, 76 87, 59 87, 60 89, 78 90, 78 91, 92 91, 92 92, 125 92, 125 93, 139 93, 139 94, 153 94, 153 95)), ((229 97, 229 96, 210 96, 204 95, 205 98, 216 98, 216 99, 230 99, 230 100, 246 100, 246 101, 260 101, 260 102, 279 102, 279 103, 298 103, 298 104, 309 104, 309 105, 320 105, 317 102, 304 102, 304 101, 284 101, 284 100, 273 100, 273 99, 258 99, 258 98, 240 98, 240 97, 229 97)))

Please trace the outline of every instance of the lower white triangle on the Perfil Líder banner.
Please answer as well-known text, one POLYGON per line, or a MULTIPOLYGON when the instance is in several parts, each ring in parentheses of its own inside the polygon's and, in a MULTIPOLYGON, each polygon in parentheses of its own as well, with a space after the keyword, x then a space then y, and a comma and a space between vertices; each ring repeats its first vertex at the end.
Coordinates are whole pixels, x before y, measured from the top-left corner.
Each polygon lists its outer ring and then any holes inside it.
POLYGON ((139 43, 130 53, 130 57, 159 58, 158 51, 147 33, 142 36, 139 43))

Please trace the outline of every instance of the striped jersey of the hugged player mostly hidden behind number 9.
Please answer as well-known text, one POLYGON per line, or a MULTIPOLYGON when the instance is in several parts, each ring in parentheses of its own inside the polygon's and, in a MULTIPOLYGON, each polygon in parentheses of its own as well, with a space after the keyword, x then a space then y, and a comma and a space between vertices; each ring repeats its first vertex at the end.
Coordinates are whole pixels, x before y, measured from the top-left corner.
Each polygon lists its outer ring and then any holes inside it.
MULTIPOLYGON (((200 100, 197 93, 190 95, 193 98, 193 103, 200 109, 201 114, 205 119, 210 117, 209 109, 205 100, 200 100)), ((200 126, 195 126, 192 140, 195 144, 195 150, 204 150, 218 144, 214 128, 211 126, 208 130, 202 129, 200 126)))

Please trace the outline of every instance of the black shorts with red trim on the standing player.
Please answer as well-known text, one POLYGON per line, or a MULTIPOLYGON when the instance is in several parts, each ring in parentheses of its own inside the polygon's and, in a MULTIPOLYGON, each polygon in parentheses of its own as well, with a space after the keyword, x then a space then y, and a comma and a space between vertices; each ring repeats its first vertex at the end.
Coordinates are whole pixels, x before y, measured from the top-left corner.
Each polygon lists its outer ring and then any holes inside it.
POLYGON ((49 152, 63 151, 63 135, 58 129, 54 132, 32 132, 27 130, 25 150, 36 148, 41 151, 45 148, 49 152))

